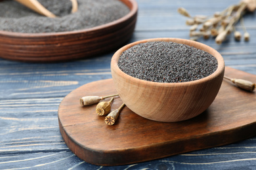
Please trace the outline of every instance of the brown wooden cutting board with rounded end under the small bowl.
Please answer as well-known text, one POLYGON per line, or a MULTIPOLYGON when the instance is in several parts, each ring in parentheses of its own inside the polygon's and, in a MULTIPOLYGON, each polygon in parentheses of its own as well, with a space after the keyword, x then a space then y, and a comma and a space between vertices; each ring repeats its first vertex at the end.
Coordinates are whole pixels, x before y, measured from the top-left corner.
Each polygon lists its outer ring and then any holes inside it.
MULTIPOLYGON (((225 75, 256 82, 256 75, 226 67, 225 75)), ((234 143, 256 135, 256 95, 223 81, 212 105, 182 122, 155 122, 121 110, 113 126, 95 113, 95 105, 81 107, 85 95, 116 93, 112 79, 85 84, 60 103, 60 133, 79 158, 96 165, 123 165, 234 143)), ((122 101, 114 99, 112 110, 122 101)))

